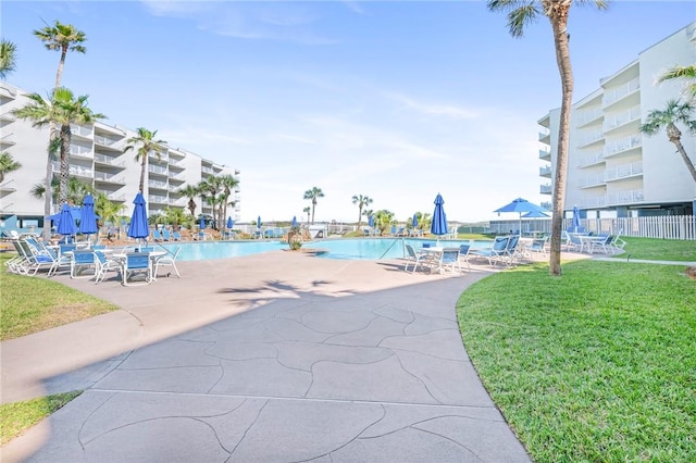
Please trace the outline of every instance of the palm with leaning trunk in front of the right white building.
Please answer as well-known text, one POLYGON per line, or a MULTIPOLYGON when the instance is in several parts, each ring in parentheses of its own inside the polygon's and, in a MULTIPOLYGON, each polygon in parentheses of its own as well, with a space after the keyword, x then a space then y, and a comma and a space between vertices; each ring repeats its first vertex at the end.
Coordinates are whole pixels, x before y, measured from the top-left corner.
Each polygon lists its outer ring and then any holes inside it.
POLYGON ((692 120, 692 113, 696 109, 696 102, 687 101, 682 103, 678 100, 669 100, 664 110, 652 110, 648 113, 645 124, 641 126, 641 132, 651 136, 664 129, 667 138, 674 143, 676 152, 682 157, 682 161, 686 164, 686 168, 696 182, 696 168, 694 163, 686 154, 682 145, 682 132, 675 124, 684 124, 692 133, 696 132, 696 121, 692 120))

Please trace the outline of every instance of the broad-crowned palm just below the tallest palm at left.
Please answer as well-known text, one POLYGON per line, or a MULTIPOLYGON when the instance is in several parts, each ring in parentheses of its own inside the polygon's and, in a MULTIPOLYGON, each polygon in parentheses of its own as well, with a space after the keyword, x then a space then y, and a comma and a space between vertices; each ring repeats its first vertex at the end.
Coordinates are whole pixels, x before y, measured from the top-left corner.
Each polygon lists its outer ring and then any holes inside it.
MULTIPOLYGON (((34 127, 44 127, 48 124, 60 126, 60 202, 67 200, 67 179, 70 177, 70 143, 72 139, 71 124, 86 125, 104 118, 100 113, 94 113, 87 108, 87 96, 75 98, 73 92, 64 87, 53 91, 51 101, 45 100, 38 93, 28 96, 30 102, 25 107, 12 111, 23 120, 34 121, 34 127)), ((51 175, 52 177, 52 175, 51 175)), ((50 189, 47 188, 47 190, 50 189)), ((45 195, 45 197, 50 195, 45 195)), ((50 215, 50 214, 49 214, 50 215)))

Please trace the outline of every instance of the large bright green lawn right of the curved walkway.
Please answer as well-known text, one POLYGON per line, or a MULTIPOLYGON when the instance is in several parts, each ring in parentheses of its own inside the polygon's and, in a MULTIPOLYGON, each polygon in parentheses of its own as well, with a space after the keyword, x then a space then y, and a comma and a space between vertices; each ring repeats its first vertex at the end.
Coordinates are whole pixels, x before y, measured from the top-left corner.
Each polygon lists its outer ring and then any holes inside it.
POLYGON ((537 264, 462 293, 467 351, 535 462, 696 461, 696 281, 683 271, 577 261, 551 277, 537 264))

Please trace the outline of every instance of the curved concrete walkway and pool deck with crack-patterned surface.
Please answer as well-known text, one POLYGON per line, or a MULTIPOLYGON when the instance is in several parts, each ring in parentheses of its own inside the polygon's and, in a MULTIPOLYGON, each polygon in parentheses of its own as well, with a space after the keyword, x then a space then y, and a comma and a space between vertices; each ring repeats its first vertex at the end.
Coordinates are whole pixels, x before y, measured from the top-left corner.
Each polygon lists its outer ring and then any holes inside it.
POLYGON ((122 310, 2 343, 2 401, 84 388, 3 462, 527 462, 455 304, 488 271, 273 252, 183 262, 122 310))

